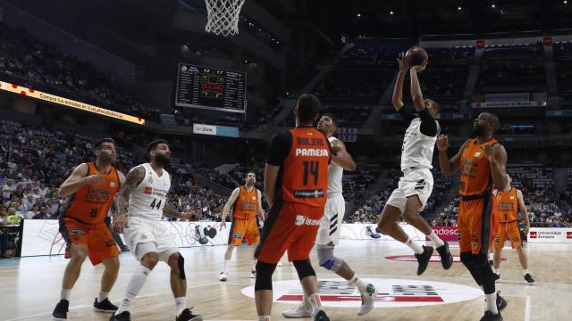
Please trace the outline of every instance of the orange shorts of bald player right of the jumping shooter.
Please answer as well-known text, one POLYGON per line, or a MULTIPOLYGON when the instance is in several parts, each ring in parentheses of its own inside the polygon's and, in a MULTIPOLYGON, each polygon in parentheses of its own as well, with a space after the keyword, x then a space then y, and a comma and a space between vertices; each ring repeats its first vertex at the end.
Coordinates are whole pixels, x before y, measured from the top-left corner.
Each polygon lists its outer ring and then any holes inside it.
POLYGON ((458 246, 461 252, 487 255, 497 226, 496 197, 461 200, 458 204, 458 246))

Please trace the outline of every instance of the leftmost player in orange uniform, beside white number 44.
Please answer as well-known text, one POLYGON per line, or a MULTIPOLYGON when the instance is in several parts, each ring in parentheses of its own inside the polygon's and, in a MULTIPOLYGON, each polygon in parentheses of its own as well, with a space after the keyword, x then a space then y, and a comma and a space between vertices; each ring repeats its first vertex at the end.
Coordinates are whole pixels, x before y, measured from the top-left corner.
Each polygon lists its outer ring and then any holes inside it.
POLYGON ((61 297, 52 314, 53 320, 67 320, 71 288, 80 277, 86 257, 94 266, 103 263, 105 267, 94 309, 111 313, 117 309, 107 299, 107 294, 119 272, 119 250, 105 219, 125 177, 114 168, 117 154, 113 139, 98 141, 94 152, 96 161, 82 163, 73 169, 59 189, 60 197, 71 197, 60 217, 60 233, 67 245, 65 258, 70 262, 63 273, 61 297))

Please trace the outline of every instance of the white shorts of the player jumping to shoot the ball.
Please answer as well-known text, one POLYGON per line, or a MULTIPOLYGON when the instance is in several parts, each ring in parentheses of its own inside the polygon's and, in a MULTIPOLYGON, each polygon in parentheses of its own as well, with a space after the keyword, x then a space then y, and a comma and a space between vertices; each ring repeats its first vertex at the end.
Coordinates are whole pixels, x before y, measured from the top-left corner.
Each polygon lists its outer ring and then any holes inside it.
POLYGON ((398 187, 391 193, 387 204, 400 209, 401 213, 403 213, 408 197, 417 195, 421 201, 421 207, 419 208, 419 211, 421 211, 425 208, 431 192, 433 192, 431 169, 413 169, 404 172, 398 187))

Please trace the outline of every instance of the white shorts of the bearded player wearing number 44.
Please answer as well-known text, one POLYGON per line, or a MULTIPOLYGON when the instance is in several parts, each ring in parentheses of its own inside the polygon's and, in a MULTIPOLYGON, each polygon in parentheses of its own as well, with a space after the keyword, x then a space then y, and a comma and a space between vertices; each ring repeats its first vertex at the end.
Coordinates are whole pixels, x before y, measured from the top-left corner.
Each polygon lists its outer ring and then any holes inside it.
POLYGON ((128 217, 129 228, 123 230, 125 243, 139 261, 148 252, 156 252, 166 262, 172 253, 179 251, 169 225, 153 218, 128 217), (145 244, 145 245, 144 245, 145 244))

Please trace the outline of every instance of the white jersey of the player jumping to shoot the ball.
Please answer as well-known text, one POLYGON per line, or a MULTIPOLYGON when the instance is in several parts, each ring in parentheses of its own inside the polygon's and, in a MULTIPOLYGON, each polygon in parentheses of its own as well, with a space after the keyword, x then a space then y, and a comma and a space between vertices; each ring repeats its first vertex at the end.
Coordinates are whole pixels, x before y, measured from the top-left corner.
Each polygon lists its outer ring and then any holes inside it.
MULTIPOLYGON (((435 120, 437 121, 437 120, 435 120)), ((401 147, 401 171, 407 169, 433 169, 433 149, 437 136, 441 132, 441 126, 437 122, 437 135, 425 136, 421 133, 421 119, 411 120, 408 130, 403 138, 401 147)))

